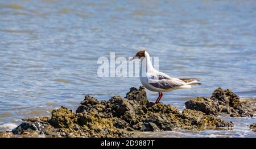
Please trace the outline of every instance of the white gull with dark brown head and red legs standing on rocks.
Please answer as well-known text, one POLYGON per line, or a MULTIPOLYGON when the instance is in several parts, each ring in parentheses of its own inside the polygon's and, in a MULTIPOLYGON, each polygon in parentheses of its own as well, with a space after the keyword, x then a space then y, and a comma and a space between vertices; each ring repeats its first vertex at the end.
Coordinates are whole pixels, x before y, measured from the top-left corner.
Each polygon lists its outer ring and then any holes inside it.
POLYGON ((159 103, 163 96, 163 92, 191 88, 191 85, 200 85, 200 83, 196 83, 199 81, 197 78, 175 78, 168 76, 163 72, 156 71, 151 64, 150 55, 147 51, 137 52, 137 54, 130 60, 134 59, 141 60, 139 79, 141 80, 142 85, 148 90, 159 93, 155 104, 159 103))

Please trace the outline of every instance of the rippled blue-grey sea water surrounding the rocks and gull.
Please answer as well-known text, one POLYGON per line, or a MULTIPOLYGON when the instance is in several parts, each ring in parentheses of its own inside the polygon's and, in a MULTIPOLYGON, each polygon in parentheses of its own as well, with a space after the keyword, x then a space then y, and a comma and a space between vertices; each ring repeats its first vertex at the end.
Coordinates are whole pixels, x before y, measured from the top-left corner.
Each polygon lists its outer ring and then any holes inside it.
MULTIPOLYGON (((90 94, 125 96, 137 77, 98 77, 98 57, 147 49, 159 69, 203 85, 165 93, 180 109, 218 86, 256 97, 255 1, 0 1, 0 127, 21 118, 73 110, 90 94)), ((150 101, 157 93, 147 91, 150 101)), ((254 118, 228 118, 233 130, 171 131, 151 136, 251 137, 254 118)), ((1 130, 1 129, 0 129, 1 130)), ((148 134, 146 134, 148 135, 148 134)))

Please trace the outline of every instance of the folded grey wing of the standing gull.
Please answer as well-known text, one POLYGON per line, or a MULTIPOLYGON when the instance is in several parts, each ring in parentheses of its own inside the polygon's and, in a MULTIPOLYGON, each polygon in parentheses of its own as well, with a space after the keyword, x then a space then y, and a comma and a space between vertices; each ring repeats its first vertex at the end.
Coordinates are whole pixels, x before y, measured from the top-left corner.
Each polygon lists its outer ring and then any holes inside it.
POLYGON ((160 89, 174 89, 185 85, 184 82, 179 79, 162 79, 156 82, 150 82, 149 84, 160 89))

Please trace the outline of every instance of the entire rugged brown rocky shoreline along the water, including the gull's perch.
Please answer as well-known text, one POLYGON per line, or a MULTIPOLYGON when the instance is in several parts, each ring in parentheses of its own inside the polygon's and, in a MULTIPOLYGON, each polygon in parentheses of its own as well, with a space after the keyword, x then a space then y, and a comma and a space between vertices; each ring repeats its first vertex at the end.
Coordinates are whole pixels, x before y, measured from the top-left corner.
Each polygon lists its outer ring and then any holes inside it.
POLYGON ((0 137, 130 137, 137 131, 229 128, 234 126, 232 122, 216 116, 253 117, 256 111, 231 90, 221 88, 212 97, 192 98, 185 107, 180 113, 175 106, 149 102, 141 86, 131 88, 126 97, 114 96, 108 101, 86 95, 75 112, 61 106, 52 110, 51 117, 23 119, 0 137))

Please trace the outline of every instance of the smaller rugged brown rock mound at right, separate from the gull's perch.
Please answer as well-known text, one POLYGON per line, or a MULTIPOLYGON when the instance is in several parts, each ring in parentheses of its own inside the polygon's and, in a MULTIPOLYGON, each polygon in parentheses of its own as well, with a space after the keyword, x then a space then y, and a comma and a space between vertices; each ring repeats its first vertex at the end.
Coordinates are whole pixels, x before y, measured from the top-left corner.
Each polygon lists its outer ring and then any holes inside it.
POLYGON ((253 117, 255 108, 241 102, 231 90, 218 88, 212 97, 196 97, 185 102, 187 109, 199 110, 208 115, 229 114, 230 117, 253 117))

